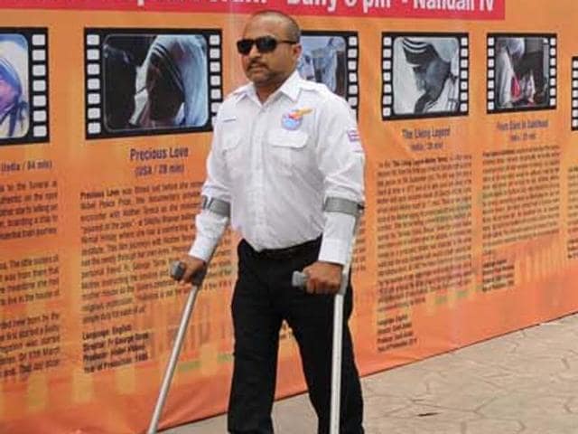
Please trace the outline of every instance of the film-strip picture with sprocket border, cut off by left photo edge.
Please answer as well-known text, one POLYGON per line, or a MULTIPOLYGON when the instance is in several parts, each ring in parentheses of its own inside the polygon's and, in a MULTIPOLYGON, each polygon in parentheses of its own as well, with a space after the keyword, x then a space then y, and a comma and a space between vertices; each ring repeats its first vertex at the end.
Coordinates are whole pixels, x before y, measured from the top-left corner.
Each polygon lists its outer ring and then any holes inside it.
MULTIPOLYGON (((6 61, 11 64, 18 80, 26 90, 27 100, 23 118, 27 126, 20 123, 12 134, 0 136, 0 145, 40 143, 50 140, 49 122, 49 68, 48 30, 36 27, 0 28, 0 43, 7 52, 6 61), (27 77, 25 76, 27 74, 27 77)), ((11 115, 8 114, 8 117, 11 115)), ((21 114, 14 114, 22 118, 21 114)), ((16 124, 18 125, 18 124, 16 124)))

